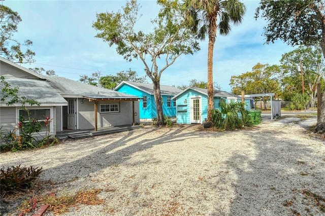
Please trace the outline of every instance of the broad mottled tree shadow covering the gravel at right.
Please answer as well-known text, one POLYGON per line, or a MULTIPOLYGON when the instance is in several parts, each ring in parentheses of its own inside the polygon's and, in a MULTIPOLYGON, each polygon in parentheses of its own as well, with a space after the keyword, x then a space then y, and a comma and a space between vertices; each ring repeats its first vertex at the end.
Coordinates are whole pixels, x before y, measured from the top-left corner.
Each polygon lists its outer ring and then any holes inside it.
POLYGON ((309 137, 299 138, 287 127, 294 124, 307 128, 311 120, 296 121, 296 118, 286 118, 273 122, 278 125, 277 132, 256 131, 252 135, 252 145, 257 154, 254 157, 234 154, 228 160, 228 169, 237 175, 229 215, 323 213, 313 202, 307 201, 301 190, 308 189, 325 196, 320 188, 325 184, 325 158, 308 144, 309 137))

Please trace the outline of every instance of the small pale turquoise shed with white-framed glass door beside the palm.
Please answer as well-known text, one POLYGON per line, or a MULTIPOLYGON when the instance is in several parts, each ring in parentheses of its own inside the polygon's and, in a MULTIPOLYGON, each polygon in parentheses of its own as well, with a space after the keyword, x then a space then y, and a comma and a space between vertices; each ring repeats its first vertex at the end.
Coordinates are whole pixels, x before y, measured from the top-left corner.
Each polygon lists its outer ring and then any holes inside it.
MULTIPOLYGON (((178 124, 202 124, 208 118, 208 90, 188 87, 175 95, 176 119, 178 124)), ((214 109, 220 101, 241 101, 241 97, 225 91, 214 90, 214 109)), ((250 110, 250 99, 245 99, 246 110, 250 110)))

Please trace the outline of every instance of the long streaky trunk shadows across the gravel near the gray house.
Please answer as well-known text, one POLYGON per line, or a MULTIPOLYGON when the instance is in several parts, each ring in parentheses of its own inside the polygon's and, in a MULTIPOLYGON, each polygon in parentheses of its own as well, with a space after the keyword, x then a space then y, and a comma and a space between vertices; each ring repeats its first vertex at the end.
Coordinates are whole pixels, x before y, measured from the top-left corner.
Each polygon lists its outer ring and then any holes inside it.
MULTIPOLYGON (((155 145, 161 145, 164 143, 172 143, 174 141, 180 141, 180 140, 186 140, 188 136, 190 137, 205 137, 204 131, 196 131, 196 132, 185 132, 188 127, 192 126, 185 126, 180 127, 177 129, 164 129, 160 130, 159 128, 150 128, 150 129, 138 129, 138 130, 132 130, 128 131, 124 136, 121 136, 118 140, 115 140, 113 142, 109 141, 110 136, 96 136, 96 142, 99 143, 105 143, 107 142, 107 146, 104 148, 99 149, 98 151, 93 152, 90 155, 87 155, 85 157, 82 157, 80 159, 63 163, 59 166, 51 167, 51 168, 45 168, 44 175, 42 176, 42 179, 50 180, 53 183, 64 183, 73 181, 77 178, 85 177, 93 172, 100 171, 101 169, 110 167, 110 166, 116 166, 122 162, 127 161, 131 158, 131 155, 133 155, 136 152, 144 151, 146 149, 152 148, 155 145), (141 131, 141 133, 139 133, 141 131), (145 137, 150 137, 146 135, 150 135, 150 133, 157 133, 164 131, 164 133, 160 134, 154 139, 148 139, 145 137), (138 134, 138 135, 134 135, 138 134), (133 142, 136 139, 141 139, 141 141, 137 141, 133 143, 132 145, 129 145, 129 142, 133 142), (114 151, 115 149, 118 149, 120 147, 126 146, 123 149, 119 149, 114 151), (55 173, 55 176, 53 176, 53 173, 55 173)), ((222 135, 222 133, 216 133, 215 136, 222 135)), ((93 145, 91 143, 91 138, 85 139, 85 140, 76 140, 75 142, 87 142, 89 141, 89 147, 93 145)), ((79 147, 80 148, 80 147, 79 147)), ((75 149, 78 149, 78 147, 69 147, 62 149, 62 151, 70 152, 74 151, 75 149)), ((84 151, 87 151, 87 149, 84 149, 84 151)), ((62 155, 62 154, 61 154, 62 155)), ((63 154, 64 156, 64 154, 63 154)), ((55 155, 53 156, 55 157, 55 155)))

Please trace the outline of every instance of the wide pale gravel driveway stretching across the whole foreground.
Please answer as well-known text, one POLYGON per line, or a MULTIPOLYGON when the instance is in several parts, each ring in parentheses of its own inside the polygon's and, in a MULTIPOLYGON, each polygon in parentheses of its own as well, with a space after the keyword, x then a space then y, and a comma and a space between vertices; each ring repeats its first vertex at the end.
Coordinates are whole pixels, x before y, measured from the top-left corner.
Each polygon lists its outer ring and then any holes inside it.
POLYGON ((42 166, 56 196, 102 189, 103 204, 62 215, 324 215, 325 142, 306 129, 315 124, 316 116, 225 132, 145 126, 0 161, 42 166))

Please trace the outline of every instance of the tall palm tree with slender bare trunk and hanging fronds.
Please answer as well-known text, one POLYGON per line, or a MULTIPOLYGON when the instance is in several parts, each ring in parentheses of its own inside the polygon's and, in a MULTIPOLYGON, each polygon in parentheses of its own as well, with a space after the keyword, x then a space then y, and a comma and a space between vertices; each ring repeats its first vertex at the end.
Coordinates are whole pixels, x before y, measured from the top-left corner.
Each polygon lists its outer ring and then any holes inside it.
POLYGON ((231 22, 238 25, 242 22, 246 7, 239 0, 184 0, 185 21, 198 38, 205 40, 209 36, 208 47, 208 120, 211 120, 213 103, 213 48, 217 28, 221 35, 228 35, 231 22), (219 20, 218 20, 219 19, 219 20))

